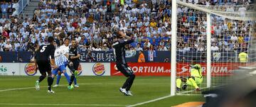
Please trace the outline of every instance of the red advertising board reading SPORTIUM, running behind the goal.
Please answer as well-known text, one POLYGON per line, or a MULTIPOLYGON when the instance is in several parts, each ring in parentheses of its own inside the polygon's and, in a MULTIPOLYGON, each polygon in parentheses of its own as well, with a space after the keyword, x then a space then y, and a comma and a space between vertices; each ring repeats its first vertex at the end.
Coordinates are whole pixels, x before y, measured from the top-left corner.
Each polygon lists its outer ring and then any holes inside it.
MULTIPOLYGON (((147 63, 128 63, 134 73, 138 76, 170 76, 171 64, 165 62, 147 62, 147 63)), ((191 67, 190 63, 177 63, 176 74, 177 76, 189 76, 191 67)), ((203 75, 206 75, 206 63, 200 63, 203 69, 203 75)), ((212 63, 211 64, 212 76, 228 76, 233 74, 233 69, 238 69, 238 63, 212 63)), ((115 66, 111 62, 111 76, 121 76, 115 66)))

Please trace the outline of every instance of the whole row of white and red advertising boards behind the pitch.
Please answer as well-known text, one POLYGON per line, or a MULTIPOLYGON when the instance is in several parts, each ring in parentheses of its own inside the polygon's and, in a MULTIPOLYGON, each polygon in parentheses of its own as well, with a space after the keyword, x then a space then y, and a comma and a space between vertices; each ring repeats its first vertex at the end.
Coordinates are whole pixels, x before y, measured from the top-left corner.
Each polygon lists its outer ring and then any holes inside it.
MULTIPOLYGON (((170 76, 171 64, 169 62, 146 62, 128 63, 131 69, 137 76, 170 76)), ((203 75, 206 75, 206 63, 201 62, 203 75)), ((214 76, 230 76, 233 75, 233 69, 238 69, 239 63, 235 62, 214 62, 212 63, 211 75, 214 76)), ((187 62, 177 63, 178 76, 188 76, 191 67, 187 62)), ((67 68, 68 74, 70 74, 67 68)), ((80 63, 80 76, 122 76, 122 73, 117 71, 114 62, 90 62, 80 63)), ((0 75, 9 76, 39 76, 39 71, 36 71, 33 63, 0 63, 0 75)))

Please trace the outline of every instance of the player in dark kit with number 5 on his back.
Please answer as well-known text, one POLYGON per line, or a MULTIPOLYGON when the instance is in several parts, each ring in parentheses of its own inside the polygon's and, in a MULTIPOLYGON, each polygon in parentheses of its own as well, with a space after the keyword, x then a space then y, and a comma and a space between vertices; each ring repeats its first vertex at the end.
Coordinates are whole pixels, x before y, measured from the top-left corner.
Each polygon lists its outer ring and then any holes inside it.
POLYGON ((46 78, 46 72, 48 74, 48 93, 54 93, 53 90, 50 89, 50 86, 53 84, 53 78, 51 77, 51 66, 53 66, 54 69, 58 68, 58 66, 55 64, 54 60, 54 52, 55 52, 55 46, 54 38, 49 37, 48 38, 47 45, 41 45, 39 47, 39 50, 36 52, 35 55, 35 65, 38 67, 41 77, 36 81, 36 90, 40 89, 39 83, 43 81, 43 79, 46 78))

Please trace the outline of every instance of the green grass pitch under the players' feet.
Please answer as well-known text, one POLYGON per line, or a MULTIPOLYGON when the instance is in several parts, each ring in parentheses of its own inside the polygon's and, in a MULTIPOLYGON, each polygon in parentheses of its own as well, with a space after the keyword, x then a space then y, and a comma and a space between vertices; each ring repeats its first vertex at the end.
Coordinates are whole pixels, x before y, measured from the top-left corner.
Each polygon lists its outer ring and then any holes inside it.
MULTIPOLYGON (((62 77, 62 86, 53 88, 55 94, 48 94, 47 79, 41 82, 39 91, 34 88, 36 79, 38 77, 1 76, 0 106, 129 106, 168 96, 171 86, 170 77, 136 77, 131 89, 134 96, 124 96, 119 92, 119 87, 122 86, 125 77, 79 77, 80 87, 73 90, 68 90, 68 82, 62 77)), ((204 101, 204 98, 201 95, 172 96, 142 106, 170 107, 188 101, 204 101)))

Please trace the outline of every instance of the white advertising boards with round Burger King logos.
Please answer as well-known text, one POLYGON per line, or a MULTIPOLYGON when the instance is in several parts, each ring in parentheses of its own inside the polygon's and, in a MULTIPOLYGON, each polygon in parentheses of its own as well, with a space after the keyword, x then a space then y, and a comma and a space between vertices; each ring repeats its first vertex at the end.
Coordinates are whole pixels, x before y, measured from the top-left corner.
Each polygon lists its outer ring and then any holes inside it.
MULTIPOLYGON (((70 70, 67 67, 67 72, 70 70)), ((34 63, 0 63, 0 76, 40 76, 34 63)), ((110 63, 80 63, 80 76, 110 76, 110 63)))

